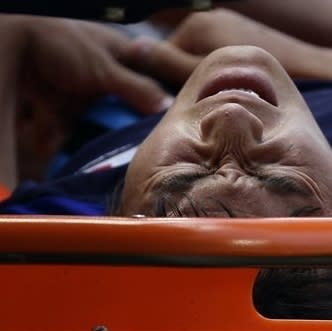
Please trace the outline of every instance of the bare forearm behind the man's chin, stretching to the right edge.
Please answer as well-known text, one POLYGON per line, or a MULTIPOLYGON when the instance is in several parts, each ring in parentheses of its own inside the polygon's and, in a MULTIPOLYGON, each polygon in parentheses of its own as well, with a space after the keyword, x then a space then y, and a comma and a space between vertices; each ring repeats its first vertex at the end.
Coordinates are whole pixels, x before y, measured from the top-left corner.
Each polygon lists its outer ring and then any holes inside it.
POLYGON ((204 55, 223 46, 258 46, 295 78, 332 79, 332 49, 303 42, 230 10, 190 16, 170 41, 187 52, 204 55))

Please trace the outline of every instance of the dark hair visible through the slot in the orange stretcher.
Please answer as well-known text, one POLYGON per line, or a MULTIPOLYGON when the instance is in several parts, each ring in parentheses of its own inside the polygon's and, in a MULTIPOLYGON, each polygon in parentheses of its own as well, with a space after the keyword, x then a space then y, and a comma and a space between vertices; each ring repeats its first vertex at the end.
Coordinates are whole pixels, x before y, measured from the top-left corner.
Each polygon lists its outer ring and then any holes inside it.
POLYGON ((332 268, 263 269, 253 301, 268 318, 332 319, 332 268))

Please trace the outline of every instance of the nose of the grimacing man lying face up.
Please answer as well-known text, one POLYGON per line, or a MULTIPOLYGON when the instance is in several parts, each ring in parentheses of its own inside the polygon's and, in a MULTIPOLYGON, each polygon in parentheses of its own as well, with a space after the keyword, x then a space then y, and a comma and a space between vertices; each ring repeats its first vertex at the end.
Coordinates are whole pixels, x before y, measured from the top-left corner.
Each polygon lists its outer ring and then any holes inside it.
POLYGON ((221 105, 205 115, 200 122, 203 141, 216 144, 242 141, 259 143, 263 135, 263 123, 243 106, 236 103, 221 105))

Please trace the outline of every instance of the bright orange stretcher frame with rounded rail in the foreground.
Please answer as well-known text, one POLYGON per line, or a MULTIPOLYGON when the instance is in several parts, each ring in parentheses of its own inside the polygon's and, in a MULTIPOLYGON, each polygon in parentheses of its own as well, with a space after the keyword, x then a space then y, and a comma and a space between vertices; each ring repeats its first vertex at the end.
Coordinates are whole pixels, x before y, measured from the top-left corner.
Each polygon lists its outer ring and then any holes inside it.
POLYGON ((331 330, 252 303, 260 266, 330 265, 331 238, 332 218, 1 216, 0 330, 331 330))

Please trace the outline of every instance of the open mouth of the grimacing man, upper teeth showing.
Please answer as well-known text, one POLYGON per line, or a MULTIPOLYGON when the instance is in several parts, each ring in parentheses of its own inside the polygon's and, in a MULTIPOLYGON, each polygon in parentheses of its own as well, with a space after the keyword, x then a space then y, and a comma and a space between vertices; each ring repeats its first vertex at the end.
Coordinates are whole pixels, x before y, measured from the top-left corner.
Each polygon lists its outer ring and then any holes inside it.
POLYGON ((278 106, 277 96, 270 80, 261 72, 249 69, 224 70, 203 87, 197 101, 232 91, 245 93, 278 106))

